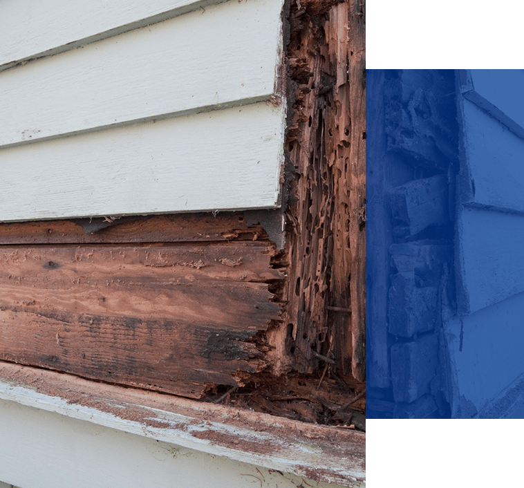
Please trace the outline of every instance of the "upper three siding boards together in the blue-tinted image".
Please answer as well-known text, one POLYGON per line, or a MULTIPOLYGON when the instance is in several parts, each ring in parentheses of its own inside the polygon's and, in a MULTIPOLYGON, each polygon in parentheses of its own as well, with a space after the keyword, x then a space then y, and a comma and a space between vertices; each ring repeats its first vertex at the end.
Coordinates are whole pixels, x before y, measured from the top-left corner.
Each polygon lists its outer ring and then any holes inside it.
POLYGON ((456 264, 458 311, 469 315, 524 292, 524 71, 471 70, 461 82, 456 264))

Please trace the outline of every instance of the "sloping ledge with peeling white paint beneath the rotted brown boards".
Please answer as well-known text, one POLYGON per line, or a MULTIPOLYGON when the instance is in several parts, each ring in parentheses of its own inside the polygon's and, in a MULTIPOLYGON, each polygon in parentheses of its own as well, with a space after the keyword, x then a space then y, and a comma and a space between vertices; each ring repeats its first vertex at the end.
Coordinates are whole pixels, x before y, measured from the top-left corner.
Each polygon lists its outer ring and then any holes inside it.
POLYGON ((310 480, 363 487, 366 434, 0 362, 0 399, 310 480))

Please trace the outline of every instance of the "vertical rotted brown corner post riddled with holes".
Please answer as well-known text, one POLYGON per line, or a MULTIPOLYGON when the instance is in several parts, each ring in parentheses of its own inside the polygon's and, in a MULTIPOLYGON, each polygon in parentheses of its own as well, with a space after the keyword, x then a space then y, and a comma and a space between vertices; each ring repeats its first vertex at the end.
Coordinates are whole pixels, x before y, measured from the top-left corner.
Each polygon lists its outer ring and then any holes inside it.
MULTIPOLYGON (((365 379, 365 19, 359 0, 296 2, 290 12, 294 165, 288 217, 290 362, 333 355, 365 379), (350 279, 351 277, 351 279, 350 279)), ((324 364, 322 364, 324 366, 324 364)))

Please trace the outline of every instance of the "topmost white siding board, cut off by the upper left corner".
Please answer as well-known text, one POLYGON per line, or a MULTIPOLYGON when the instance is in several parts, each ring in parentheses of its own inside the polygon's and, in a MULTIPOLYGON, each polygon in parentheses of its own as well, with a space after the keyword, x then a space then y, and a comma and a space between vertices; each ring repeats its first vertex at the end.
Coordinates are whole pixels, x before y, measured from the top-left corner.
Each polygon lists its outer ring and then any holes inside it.
POLYGON ((60 53, 219 1, 3 0, 0 71, 24 59, 60 53))

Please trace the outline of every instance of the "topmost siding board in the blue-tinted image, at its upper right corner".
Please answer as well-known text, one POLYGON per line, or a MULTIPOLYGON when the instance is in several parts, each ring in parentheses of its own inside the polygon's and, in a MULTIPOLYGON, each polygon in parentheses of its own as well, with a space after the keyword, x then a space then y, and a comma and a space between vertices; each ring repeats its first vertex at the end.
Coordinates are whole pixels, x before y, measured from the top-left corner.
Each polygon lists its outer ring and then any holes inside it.
POLYGON ((524 70, 462 70, 462 93, 524 138, 524 70))

